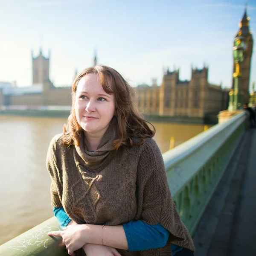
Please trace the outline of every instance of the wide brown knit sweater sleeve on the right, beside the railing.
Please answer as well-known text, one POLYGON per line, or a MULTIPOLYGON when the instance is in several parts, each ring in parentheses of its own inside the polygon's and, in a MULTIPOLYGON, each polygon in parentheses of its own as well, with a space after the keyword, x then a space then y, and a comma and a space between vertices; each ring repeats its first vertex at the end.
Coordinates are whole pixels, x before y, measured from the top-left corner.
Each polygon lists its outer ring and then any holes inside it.
POLYGON ((175 244, 194 251, 189 231, 172 200, 160 149, 153 139, 146 140, 142 147, 137 168, 137 219, 150 225, 161 224, 169 231, 166 250, 175 244))

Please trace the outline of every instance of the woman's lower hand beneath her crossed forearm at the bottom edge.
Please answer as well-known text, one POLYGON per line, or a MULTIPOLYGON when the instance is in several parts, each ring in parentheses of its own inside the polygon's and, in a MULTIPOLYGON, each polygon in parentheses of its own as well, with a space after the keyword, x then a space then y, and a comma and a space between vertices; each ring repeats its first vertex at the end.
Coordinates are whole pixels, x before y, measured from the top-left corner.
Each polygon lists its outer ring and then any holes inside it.
POLYGON ((85 244, 83 246, 86 256, 121 256, 113 247, 100 244, 85 244))

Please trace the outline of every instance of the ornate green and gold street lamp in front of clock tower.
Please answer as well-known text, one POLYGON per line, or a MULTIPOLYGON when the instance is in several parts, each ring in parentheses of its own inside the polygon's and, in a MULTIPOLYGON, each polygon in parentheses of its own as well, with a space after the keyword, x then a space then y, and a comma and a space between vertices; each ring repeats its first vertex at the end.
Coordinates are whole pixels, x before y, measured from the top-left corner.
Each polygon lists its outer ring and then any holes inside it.
POLYGON ((239 91, 239 81, 241 78, 240 64, 244 61, 244 51, 246 49, 246 44, 244 42, 244 37, 239 35, 235 38, 235 43, 233 47, 233 56, 235 61, 236 71, 233 73, 234 77, 234 89, 230 90, 229 96, 229 106, 228 110, 233 111, 243 108, 243 93, 239 91))

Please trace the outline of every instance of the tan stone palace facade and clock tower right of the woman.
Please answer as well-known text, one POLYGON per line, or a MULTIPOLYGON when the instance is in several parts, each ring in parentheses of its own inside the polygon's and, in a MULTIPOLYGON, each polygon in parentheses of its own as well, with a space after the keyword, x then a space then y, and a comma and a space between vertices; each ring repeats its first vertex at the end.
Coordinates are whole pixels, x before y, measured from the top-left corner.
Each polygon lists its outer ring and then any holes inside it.
MULTIPOLYGON (((239 84, 239 90, 244 94, 244 103, 249 102, 250 97, 249 81, 253 52, 253 37, 249 29, 249 20, 245 9, 237 32, 237 35, 244 36, 247 45, 244 51, 244 61, 240 66, 241 79, 239 84)), ((233 70, 235 71, 234 62, 233 70)), ((234 82, 232 86, 234 87, 234 82)), ((201 70, 192 67, 190 81, 181 81, 179 70, 172 72, 167 70, 160 87, 153 79, 152 86, 142 84, 135 90, 136 103, 143 113, 188 117, 204 117, 207 114, 217 114, 219 111, 227 109, 230 91, 230 89, 221 88, 221 85, 208 82, 208 67, 201 70)))

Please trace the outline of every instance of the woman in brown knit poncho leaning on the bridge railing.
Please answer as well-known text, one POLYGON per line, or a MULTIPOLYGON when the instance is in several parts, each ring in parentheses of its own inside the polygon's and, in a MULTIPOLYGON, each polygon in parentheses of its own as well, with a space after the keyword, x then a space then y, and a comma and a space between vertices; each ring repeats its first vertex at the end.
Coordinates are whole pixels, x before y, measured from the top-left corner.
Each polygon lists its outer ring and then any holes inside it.
POLYGON ((70 255, 193 255, 155 129, 133 96, 110 67, 96 65, 74 80, 68 131, 64 126, 52 139, 47 154, 52 206, 63 227, 49 235, 61 236, 70 255))

